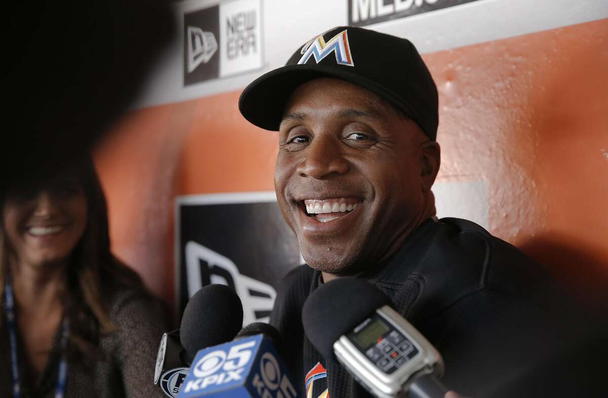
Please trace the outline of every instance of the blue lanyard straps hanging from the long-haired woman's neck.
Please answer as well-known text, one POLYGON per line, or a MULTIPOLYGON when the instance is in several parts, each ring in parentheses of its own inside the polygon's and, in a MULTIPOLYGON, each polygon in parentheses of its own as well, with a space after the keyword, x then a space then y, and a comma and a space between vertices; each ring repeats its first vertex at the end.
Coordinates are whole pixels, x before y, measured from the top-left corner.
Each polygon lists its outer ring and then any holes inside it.
MULTIPOLYGON (((10 340, 10 363, 13 373, 13 398, 20 398, 21 391, 19 389, 19 366, 17 364, 17 333, 15 327, 15 301, 13 300, 13 287, 10 283, 10 276, 6 276, 6 284, 4 286, 4 307, 6 310, 6 320, 9 327, 10 340)), ((67 343, 68 327, 67 319, 63 319, 61 325, 61 351, 65 351, 67 343)), ((63 398, 66 392, 67 379, 67 363, 66 358, 62 354, 59 361, 59 370, 57 376, 57 388, 55 388, 55 398, 63 398)))

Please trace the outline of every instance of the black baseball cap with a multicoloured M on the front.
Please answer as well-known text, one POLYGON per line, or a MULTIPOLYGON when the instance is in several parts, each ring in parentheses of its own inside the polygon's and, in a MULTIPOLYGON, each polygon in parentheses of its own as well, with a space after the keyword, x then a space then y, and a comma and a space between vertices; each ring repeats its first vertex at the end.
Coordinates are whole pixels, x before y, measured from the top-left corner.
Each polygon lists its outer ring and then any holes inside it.
POLYGON ((245 119, 277 131, 289 96, 303 83, 335 77, 368 89, 437 138, 437 86, 407 39, 361 27, 339 26, 299 47, 285 66, 261 75, 241 93, 245 119))

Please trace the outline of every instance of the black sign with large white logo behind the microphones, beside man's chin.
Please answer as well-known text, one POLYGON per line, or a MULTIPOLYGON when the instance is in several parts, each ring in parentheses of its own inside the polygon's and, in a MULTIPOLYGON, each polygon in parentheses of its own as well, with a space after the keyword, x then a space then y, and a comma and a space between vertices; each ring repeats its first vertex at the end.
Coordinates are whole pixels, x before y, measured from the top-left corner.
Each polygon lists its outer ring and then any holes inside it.
MULTIPOLYGON (((241 195, 241 197, 239 197, 241 195)), ((295 234, 275 201, 178 199, 179 313, 210 283, 228 285, 243 302, 243 324, 268 321, 280 279, 300 264, 295 234), (232 203, 231 203, 232 201, 232 203)))

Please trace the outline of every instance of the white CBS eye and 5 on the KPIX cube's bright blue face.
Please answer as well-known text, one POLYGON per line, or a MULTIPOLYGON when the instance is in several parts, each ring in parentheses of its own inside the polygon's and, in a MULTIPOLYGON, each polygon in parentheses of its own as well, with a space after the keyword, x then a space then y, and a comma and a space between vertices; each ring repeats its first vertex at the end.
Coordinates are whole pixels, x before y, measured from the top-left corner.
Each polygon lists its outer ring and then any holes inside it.
POLYGON ((195 377, 202 378, 221 369, 226 372, 221 377, 222 383, 240 380, 243 367, 251 359, 252 351, 250 348, 253 346, 255 346, 255 341, 247 341, 230 347, 227 353, 224 350, 212 351, 196 363, 193 373, 195 377))

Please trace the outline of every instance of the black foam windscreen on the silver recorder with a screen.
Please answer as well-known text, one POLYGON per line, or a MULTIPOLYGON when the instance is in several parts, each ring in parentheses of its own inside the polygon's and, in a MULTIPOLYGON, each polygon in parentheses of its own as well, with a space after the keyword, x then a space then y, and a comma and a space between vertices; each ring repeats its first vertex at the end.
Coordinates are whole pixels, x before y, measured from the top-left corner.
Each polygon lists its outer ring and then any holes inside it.
POLYGON ((302 309, 308 340, 325 358, 333 358, 334 343, 390 298, 364 279, 340 278, 321 285, 302 309))

